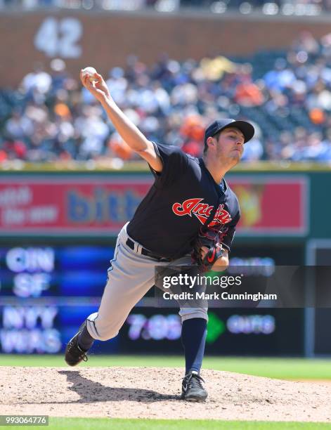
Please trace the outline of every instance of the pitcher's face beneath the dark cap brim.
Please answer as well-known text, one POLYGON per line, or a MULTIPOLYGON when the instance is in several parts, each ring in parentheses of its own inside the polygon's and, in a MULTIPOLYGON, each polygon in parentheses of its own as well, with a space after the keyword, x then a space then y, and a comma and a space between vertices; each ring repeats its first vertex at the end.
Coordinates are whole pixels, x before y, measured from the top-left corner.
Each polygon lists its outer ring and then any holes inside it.
POLYGON ((216 145, 217 158, 235 166, 242 157, 244 141, 244 135, 239 129, 234 127, 224 129, 221 131, 216 145))

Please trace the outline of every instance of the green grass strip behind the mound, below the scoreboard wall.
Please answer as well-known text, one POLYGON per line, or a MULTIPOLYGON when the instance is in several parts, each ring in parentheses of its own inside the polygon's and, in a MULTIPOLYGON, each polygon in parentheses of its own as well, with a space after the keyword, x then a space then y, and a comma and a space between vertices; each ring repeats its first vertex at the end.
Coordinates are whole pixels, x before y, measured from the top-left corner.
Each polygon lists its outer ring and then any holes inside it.
MULTIPOLYGON (((2 366, 66 367, 63 356, 0 355, 2 366)), ((90 356, 79 367, 183 367, 181 356, 90 356)), ((330 359, 205 357, 203 368, 279 379, 331 379, 330 359)))

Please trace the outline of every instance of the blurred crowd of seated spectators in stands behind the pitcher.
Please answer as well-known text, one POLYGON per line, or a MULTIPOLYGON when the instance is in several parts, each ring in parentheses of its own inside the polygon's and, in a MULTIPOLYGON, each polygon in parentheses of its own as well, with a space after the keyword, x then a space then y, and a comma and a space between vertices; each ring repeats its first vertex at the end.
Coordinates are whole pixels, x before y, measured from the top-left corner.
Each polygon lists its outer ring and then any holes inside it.
MULTIPOLYGON (((136 159, 99 103, 68 74, 36 65, 17 89, 0 89, 0 163, 136 159)), ((78 75, 78 73, 77 73, 78 75)), ((257 133, 243 160, 331 162, 331 35, 302 33, 287 53, 247 59, 138 58, 105 76, 125 114, 152 141, 200 156, 205 126, 218 117, 248 119, 257 133)))

